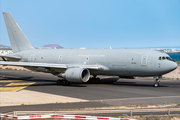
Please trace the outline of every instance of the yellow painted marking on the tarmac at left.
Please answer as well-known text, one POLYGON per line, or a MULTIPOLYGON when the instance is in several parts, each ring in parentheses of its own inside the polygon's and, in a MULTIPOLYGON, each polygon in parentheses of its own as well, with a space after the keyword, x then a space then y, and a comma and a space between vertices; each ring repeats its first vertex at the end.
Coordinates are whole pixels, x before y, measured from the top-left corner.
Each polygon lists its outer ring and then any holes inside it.
POLYGON ((16 92, 21 89, 24 89, 28 87, 29 85, 32 85, 36 82, 31 82, 31 83, 10 83, 6 86, 0 87, 0 92, 16 92))

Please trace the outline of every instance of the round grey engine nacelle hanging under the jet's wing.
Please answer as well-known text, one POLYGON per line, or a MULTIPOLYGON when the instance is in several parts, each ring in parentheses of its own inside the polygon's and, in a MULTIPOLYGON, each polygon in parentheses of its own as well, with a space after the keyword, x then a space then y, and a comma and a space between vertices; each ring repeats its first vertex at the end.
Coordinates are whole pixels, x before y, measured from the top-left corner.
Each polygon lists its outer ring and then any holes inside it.
POLYGON ((87 82, 90 78, 90 72, 86 68, 69 68, 59 76, 69 82, 87 82))

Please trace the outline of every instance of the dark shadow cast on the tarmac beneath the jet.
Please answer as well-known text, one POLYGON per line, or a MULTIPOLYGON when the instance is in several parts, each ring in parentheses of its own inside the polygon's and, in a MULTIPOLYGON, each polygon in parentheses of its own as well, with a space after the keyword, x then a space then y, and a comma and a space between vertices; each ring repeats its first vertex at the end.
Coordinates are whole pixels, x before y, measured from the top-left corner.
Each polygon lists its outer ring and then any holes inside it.
MULTIPOLYGON (((20 77, 20 78, 13 78, 13 77, 4 77, 1 80, 23 80, 27 82, 38 82, 36 84, 30 85, 29 87, 33 86, 61 86, 56 84, 56 80, 49 80, 49 79, 33 79, 33 77, 20 77)), ((72 83, 70 85, 67 85, 67 87, 87 87, 88 85, 119 85, 119 86, 137 86, 137 87, 152 87, 153 83, 148 83, 148 82, 126 82, 126 81, 118 81, 119 78, 102 78, 100 83, 72 83)), ((128 79, 127 79, 128 80, 128 79)), ((14 86, 9 86, 9 87, 20 87, 24 85, 14 85, 14 86)), ((8 87, 8 86, 6 86, 8 87)), ((169 87, 165 85, 160 85, 159 87, 169 87)))

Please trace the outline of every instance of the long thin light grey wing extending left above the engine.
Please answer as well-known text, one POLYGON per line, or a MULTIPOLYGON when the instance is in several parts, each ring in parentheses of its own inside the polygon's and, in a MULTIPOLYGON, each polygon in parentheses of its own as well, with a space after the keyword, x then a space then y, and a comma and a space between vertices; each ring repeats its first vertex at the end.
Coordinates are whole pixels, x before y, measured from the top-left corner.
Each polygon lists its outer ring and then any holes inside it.
POLYGON ((99 65, 69 65, 69 64, 52 64, 52 63, 33 63, 33 62, 4 62, 1 61, 0 65, 7 66, 21 66, 21 67, 42 67, 42 68, 57 68, 57 69, 68 69, 68 68, 87 68, 94 70, 106 69, 99 65))

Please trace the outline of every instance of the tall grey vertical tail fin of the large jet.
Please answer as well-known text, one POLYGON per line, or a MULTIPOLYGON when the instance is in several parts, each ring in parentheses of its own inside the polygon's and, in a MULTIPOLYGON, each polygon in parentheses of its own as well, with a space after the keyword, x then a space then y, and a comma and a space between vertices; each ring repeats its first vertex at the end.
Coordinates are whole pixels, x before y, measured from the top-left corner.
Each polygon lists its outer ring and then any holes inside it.
POLYGON ((14 53, 35 49, 9 12, 3 12, 4 21, 14 53))

